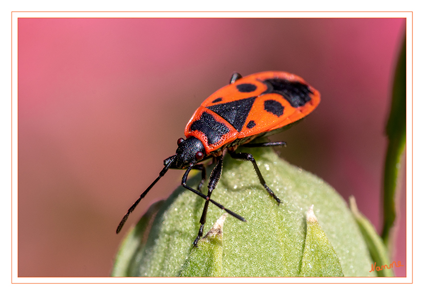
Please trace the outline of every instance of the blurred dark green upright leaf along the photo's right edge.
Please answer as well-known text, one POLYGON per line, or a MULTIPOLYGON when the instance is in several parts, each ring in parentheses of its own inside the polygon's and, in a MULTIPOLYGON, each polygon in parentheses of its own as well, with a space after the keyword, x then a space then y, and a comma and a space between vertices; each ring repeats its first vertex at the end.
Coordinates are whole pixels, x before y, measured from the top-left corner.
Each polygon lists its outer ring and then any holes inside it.
POLYGON ((393 83, 392 107, 387 122, 386 133, 389 144, 386 153, 383 194, 383 232, 386 246, 390 244, 390 230, 396 219, 396 187, 401 167, 402 154, 406 144, 407 98, 406 98, 406 37, 399 55, 393 83))

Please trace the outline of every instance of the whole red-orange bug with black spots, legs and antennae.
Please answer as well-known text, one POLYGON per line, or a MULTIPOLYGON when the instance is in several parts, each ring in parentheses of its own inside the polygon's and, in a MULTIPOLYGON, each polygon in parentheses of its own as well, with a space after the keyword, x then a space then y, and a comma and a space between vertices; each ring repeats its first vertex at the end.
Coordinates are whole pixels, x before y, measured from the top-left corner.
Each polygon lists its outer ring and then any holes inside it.
POLYGON ((311 113, 320 102, 320 93, 301 77, 287 72, 268 71, 242 77, 239 73, 231 76, 229 85, 222 87, 196 110, 186 126, 186 139, 177 141, 175 155, 164 160, 164 168, 158 178, 141 194, 140 198, 128 209, 122 218, 116 233, 122 229, 129 214, 143 199, 149 190, 171 169, 187 169, 182 186, 206 200, 200 219, 200 229, 194 241, 197 246, 203 236, 208 206, 215 206, 233 217, 246 221, 240 215, 224 208, 211 199, 212 192, 222 173, 222 153, 226 149, 234 159, 250 161, 261 185, 277 204, 280 199, 266 185, 255 159, 249 153, 237 153, 239 146, 264 147, 285 145, 285 142, 249 143, 255 138, 268 136, 289 128, 311 113), (208 194, 200 192, 206 179, 206 168, 199 164, 214 158, 216 165, 212 170, 208 194), (202 171, 202 181, 198 190, 186 185, 191 170, 202 171))

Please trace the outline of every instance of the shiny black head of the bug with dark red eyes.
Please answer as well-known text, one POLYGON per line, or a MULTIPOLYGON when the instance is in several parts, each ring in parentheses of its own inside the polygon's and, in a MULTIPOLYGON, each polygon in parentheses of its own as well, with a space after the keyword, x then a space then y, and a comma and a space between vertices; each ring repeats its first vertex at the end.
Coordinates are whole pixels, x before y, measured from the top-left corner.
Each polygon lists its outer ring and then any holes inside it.
POLYGON ((180 138, 178 140, 178 148, 174 165, 176 168, 187 168, 190 164, 196 164, 201 161, 206 153, 202 141, 194 136, 187 139, 180 138))

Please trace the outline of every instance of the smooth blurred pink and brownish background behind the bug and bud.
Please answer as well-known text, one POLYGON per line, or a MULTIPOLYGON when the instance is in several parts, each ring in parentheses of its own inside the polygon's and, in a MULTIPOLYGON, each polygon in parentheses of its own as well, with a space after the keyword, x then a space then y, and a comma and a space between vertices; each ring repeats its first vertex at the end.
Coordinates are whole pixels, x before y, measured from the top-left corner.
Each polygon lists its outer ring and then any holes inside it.
MULTIPOLYGON (((404 34, 401 18, 19 18, 18 276, 109 276, 120 219, 234 71, 288 71, 321 92, 316 111, 273 139, 288 142, 281 157, 354 195, 380 232, 404 34)), ((181 176, 168 173, 124 231, 181 176)), ((394 260, 406 265, 402 177, 394 260)))

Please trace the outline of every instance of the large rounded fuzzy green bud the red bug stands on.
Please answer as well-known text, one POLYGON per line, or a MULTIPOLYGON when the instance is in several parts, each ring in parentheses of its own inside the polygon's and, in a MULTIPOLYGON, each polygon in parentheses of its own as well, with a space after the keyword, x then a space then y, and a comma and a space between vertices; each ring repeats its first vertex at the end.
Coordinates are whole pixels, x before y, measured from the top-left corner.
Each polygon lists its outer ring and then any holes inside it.
MULTIPOLYGON (((133 257, 126 274, 134 277, 297 277, 307 236, 305 216, 314 204, 315 215, 340 261, 343 274, 376 276, 369 272, 372 260, 358 225, 333 188, 281 160, 272 148, 239 148, 237 151, 254 156, 268 186, 281 199, 280 205, 260 185, 250 162, 226 155, 212 199, 247 222, 228 216, 222 237, 214 238, 218 239, 215 243, 202 241, 199 249, 193 249, 205 200, 179 187, 156 214, 143 246, 127 247, 128 243, 124 243, 116 265, 121 265, 121 257, 133 257)), ((212 167, 207 170, 210 173, 212 167)), ((196 188, 200 179, 198 174, 189 179, 188 185, 196 188)), ((205 185, 204 193, 206 190, 205 185)), ((210 204, 205 232, 222 213, 210 204)), ((139 223, 133 231, 138 227, 142 225, 139 223)))

